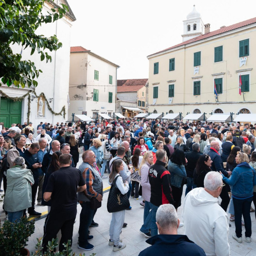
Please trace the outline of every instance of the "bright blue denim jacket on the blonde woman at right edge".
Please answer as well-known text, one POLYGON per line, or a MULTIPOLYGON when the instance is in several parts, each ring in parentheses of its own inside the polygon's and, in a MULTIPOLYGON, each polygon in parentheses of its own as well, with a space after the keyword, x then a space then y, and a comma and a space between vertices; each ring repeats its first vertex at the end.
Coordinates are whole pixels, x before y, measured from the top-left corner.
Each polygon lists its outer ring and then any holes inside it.
POLYGON ((232 196, 236 199, 244 199, 253 196, 253 186, 256 185, 256 172, 246 162, 242 162, 234 168, 230 178, 223 174, 223 181, 232 186, 232 196))

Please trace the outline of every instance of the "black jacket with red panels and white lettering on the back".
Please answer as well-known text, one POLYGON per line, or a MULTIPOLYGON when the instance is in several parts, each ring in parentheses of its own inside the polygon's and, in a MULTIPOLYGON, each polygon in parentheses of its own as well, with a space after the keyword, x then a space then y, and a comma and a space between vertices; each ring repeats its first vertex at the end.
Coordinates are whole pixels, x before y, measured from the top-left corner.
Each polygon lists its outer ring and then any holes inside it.
POLYGON ((155 206, 174 203, 171 188, 171 174, 164 166, 164 162, 156 160, 156 163, 151 166, 148 172, 151 186, 150 203, 155 206))

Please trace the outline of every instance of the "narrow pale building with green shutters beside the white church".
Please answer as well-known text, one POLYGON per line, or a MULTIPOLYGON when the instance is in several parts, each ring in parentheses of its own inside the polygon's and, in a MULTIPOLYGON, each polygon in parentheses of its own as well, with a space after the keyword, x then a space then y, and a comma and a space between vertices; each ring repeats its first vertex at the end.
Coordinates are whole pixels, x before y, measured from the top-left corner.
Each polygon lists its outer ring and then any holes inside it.
POLYGON ((119 66, 82 46, 70 47, 70 113, 91 118, 116 112, 119 66))

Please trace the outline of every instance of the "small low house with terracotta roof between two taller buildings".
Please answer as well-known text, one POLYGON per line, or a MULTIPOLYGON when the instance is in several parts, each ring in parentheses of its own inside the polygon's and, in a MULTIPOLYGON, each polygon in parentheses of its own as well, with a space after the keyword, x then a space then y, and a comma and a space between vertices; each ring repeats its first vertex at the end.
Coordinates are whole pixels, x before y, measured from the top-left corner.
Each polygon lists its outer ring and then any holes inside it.
POLYGON ((147 113, 148 78, 117 80, 117 112, 133 118, 147 113))

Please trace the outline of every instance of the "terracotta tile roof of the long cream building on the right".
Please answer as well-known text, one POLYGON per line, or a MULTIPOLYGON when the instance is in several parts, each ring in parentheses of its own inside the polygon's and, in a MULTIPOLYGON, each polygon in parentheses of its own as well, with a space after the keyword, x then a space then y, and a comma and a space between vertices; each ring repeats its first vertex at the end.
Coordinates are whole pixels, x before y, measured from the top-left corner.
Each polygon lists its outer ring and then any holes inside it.
MULTIPOLYGON (((221 27, 220 29, 218 30, 214 30, 212 32, 209 32, 207 34, 204 34, 202 36, 197 36, 197 37, 194 37, 192 39, 189 39, 185 42, 182 42, 180 44, 176 44, 170 48, 167 48, 167 49, 164 49, 160 52, 164 52, 164 51, 167 51, 167 50, 171 50, 171 49, 174 49, 176 47, 179 47, 179 46, 182 46, 182 45, 186 45, 186 44, 191 44, 191 43, 194 43, 194 42, 197 42, 197 41, 200 41, 200 40, 203 40, 205 38, 209 38, 209 37, 212 37, 212 36, 216 36, 216 35, 219 35, 219 34, 222 34, 222 33, 225 33, 225 32, 229 32, 231 30, 235 30, 235 29, 238 29, 238 28, 242 28, 244 26, 248 26, 250 24, 253 24, 253 23, 256 23, 256 17, 255 18, 252 18, 252 19, 249 19, 249 20, 244 20, 242 22, 239 22, 239 23, 236 23, 236 24, 233 24, 233 25, 230 25, 230 26, 223 26, 221 27)), ((156 52, 154 54, 157 54, 157 53, 160 53, 160 52, 156 52)), ((149 56, 151 55, 154 55, 154 54, 150 54, 149 56)))

